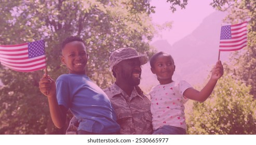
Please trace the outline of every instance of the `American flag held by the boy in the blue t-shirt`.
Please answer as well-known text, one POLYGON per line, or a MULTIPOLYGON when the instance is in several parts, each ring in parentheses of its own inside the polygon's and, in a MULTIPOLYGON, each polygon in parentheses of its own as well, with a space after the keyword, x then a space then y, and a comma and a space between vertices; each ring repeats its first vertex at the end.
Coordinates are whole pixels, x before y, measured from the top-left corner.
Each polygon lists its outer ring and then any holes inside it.
POLYGON ((43 69, 46 67, 45 41, 0 45, 0 63, 21 72, 43 69))

